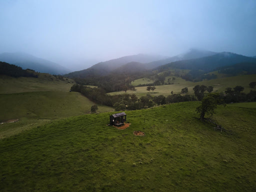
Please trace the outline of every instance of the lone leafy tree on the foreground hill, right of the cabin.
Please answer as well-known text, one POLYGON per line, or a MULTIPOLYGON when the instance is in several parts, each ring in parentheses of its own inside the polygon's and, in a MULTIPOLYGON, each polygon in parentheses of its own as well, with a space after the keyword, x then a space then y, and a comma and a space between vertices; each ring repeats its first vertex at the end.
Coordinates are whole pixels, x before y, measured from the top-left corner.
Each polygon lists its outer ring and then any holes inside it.
POLYGON ((215 113, 214 110, 217 107, 217 104, 221 104, 219 93, 211 92, 207 96, 204 96, 201 105, 195 109, 197 113, 200 113, 200 120, 204 120, 205 114, 212 115, 215 113))

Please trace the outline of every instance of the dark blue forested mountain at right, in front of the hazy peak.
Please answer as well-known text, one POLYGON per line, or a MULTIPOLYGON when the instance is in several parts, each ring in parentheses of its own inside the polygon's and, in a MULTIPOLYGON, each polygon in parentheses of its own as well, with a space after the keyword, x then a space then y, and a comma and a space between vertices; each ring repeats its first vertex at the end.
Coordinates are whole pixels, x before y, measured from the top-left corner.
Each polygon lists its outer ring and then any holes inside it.
POLYGON ((240 62, 256 63, 256 59, 231 52, 220 52, 211 56, 171 62, 159 66, 157 69, 165 70, 168 68, 178 68, 202 70, 204 72, 209 72, 213 69, 216 69, 217 67, 233 65, 240 62))

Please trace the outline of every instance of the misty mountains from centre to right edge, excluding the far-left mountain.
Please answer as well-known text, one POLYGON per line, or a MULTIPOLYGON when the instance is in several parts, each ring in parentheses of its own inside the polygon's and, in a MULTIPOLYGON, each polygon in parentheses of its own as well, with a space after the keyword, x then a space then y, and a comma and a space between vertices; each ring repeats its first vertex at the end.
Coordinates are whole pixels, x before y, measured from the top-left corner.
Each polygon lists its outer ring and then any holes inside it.
MULTIPOLYGON (((159 58, 160 56, 158 56, 159 58)), ((213 69, 233 65, 241 62, 256 62, 253 57, 248 57, 232 52, 213 52, 207 50, 189 49, 189 51, 172 57, 156 60, 146 54, 124 56, 104 62, 80 71, 68 73, 70 78, 91 78, 114 73, 134 73, 157 69, 164 71, 170 68, 193 69, 209 72, 213 69), (151 59, 151 61, 150 61, 151 59), (149 61, 149 62, 148 62, 149 61)))

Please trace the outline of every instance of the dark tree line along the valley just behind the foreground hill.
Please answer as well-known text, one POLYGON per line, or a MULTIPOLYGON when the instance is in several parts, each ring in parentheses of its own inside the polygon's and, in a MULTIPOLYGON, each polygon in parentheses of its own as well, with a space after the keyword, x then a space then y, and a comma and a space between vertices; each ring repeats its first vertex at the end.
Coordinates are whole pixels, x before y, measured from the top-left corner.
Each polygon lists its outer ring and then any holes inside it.
MULTIPOLYGON (((251 85, 254 85, 251 83, 251 85)), ((256 86, 256 83, 255 85, 256 86)), ((152 87, 148 87, 148 91, 152 90, 152 87)), ((153 88, 154 89, 154 88, 153 88)), ((204 94, 207 91, 210 94, 213 90, 212 86, 195 85, 193 87, 194 95, 190 94, 170 94, 167 96, 158 95, 152 96, 146 94, 138 98, 135 94, 116 94, 108 95, 106 91, 101 87, 88 87, 85 85, 74 84, 71 87, 71 91, 82 93, 84 96, 94 101, 97 104, 103 104, 114 107, 116 111, 119 110, 136 110, 142 108, 148 108, 155 105, 169 104, 175 102, 184 101, 201 101, 204 98, 204 94)), ((256 90, 251 90, 249 93, 242 92, 242 86, 235 86, 234 88, 227 87, 224 93, 218 93, 219 99, 223 100, 223 103, 230 102, 244 102, 244 101, 256 101, 256 90)), ((187 88, 183 88, 183 91, 187 92, 187 88)))

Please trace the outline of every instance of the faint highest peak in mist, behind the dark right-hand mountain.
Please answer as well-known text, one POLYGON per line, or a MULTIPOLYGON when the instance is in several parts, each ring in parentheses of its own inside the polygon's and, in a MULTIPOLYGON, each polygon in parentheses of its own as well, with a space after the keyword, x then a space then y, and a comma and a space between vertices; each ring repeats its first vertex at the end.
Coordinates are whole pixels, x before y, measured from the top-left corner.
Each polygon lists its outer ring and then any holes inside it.
POLYGON ((210 55, 213 55, 213 54, 216 54, 216 52, 212 52, 212 51, 208 51, 208 50, 198 50, 198 49, 195 49, 195 48, 191 48, 186 53, 179 54, 179 55, 172 56, 172 57, 168 57, 168 58, 161 59, 161 60, 156 60, 156 61, 149 62, 149 63, 147 63, 147 68, 151 69, 151 68, 155 68, 157 66, 167 64, 167 63, 170 63, 170 62, 174 62, 174 61, 178 61, 178 60, 200 58, 200 57, 204 57, 204 56, 210 56, 210 55))

